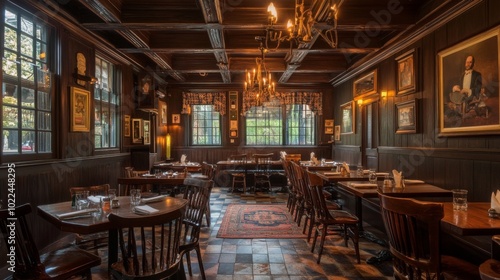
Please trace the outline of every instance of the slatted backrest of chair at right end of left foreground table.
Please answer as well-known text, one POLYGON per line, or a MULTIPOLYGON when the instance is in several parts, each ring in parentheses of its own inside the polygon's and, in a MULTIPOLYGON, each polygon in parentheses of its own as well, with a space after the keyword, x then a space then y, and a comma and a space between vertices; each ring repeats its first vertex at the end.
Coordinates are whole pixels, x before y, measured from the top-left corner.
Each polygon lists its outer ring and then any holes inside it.
POLYGON ((208 207, 210 193, 214 182, 212 180, 186 178, 183 198, 188 200, 184 215, 183 240, 194 243, 199 240, 203 214, 208 207))

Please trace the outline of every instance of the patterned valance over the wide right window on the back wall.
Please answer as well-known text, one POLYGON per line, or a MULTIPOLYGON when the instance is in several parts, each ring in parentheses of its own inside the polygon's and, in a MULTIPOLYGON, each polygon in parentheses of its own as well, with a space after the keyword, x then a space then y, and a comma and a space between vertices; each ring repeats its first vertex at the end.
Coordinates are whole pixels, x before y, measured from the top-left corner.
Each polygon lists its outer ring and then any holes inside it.
MULTIPOLYGON (((277 99, 280 105, 307 104, 316 115, 323 115, 323 94, 321 92, 276 92, 273 98, 277 99)), ((243 92, 243 114, 256 105, 255 93, 243 92)))

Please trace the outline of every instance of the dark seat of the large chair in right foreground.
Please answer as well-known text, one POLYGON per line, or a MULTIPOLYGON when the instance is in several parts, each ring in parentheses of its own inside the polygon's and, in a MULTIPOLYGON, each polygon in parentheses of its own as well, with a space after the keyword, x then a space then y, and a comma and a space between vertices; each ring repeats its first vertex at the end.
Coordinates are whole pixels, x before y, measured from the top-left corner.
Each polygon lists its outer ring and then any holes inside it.
POLYGON ((441 269, 444 279, 481 279, 478 266, 453 256, 441 256, 441 269))

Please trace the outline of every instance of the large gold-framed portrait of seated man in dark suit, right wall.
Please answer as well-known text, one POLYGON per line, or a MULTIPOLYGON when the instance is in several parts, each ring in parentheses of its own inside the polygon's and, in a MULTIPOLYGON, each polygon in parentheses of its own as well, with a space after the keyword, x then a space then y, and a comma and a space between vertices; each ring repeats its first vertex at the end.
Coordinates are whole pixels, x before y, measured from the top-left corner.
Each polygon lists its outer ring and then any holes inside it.
POLYGON ((439 136, 500 133, 495 27, 438 53, 439 136))

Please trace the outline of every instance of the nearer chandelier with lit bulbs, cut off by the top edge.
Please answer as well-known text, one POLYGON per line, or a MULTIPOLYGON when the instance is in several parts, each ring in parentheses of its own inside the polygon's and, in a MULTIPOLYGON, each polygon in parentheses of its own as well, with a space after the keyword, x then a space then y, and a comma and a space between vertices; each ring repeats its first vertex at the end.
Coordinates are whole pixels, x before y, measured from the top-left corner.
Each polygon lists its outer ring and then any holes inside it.
POLYGON ((283 41, 290 41, 290 49, 293 43, 297 46, 303 43, 311 42, 315 34, 319 34, 323 40, 332 48, 337 48, 337 14, 344 0, 328 0, 330 12, 326 20, 325 28, 319 28, 316 20, 313 17, 312 9, 306 9, 304 0, 295 0, 295 19, 288 20, 286 29, 288 34, 283 34, 282 31, 276 31, 274 25, 278 21, 278 12, 271 2, 267 7, 268 26, 266 28, 266 48, 270 48, 271 44, 276 44, 277 49, 283 41), (333 3, 332 3, 333 2, 333 3))

